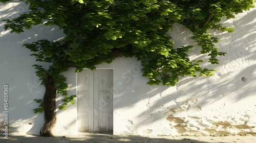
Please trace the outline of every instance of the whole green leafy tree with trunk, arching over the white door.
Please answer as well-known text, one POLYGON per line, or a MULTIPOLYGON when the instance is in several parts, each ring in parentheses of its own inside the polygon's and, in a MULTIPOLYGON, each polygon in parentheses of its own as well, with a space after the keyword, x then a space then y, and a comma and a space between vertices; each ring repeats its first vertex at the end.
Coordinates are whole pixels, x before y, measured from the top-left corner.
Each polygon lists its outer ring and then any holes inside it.
MULTIPOLYGON (((11 0, 0 0, 2 3, 11 0)), ((69 67, 95 69, 95 65, 111 63, 117 57, 136 57, 142 64, 147 84, 174 86, 179 77, 212 76, 214 69, 202 68, 200 62, 191 61, 188 52, 194 46, 175 47, 172 35, 174 23, 184 25, 193 33, 192 39, 201 47, 201 54, 208 55, 208 62, 219 64, 219 52, 210 29, 233 32, 219 22, 222 17, 234 18, 235 14, 254 7, 254 0, 24 0, 29 11, 17 18, 5 19, 5 29, 22 33, 33 26, 58 26, 66 34, 61 41, 41 39, 24 46, 31 50, 36 61, 47 62, 46 69, 33 65, 36 74, 46 86, 44 100, 34 112, 45 111, 45 124, 41 136, 53 136, 51 129, 56 122, 56 92, 64 96, 59 109, 74 104, 68 96, 66 77, 60 75, 69 67)))

